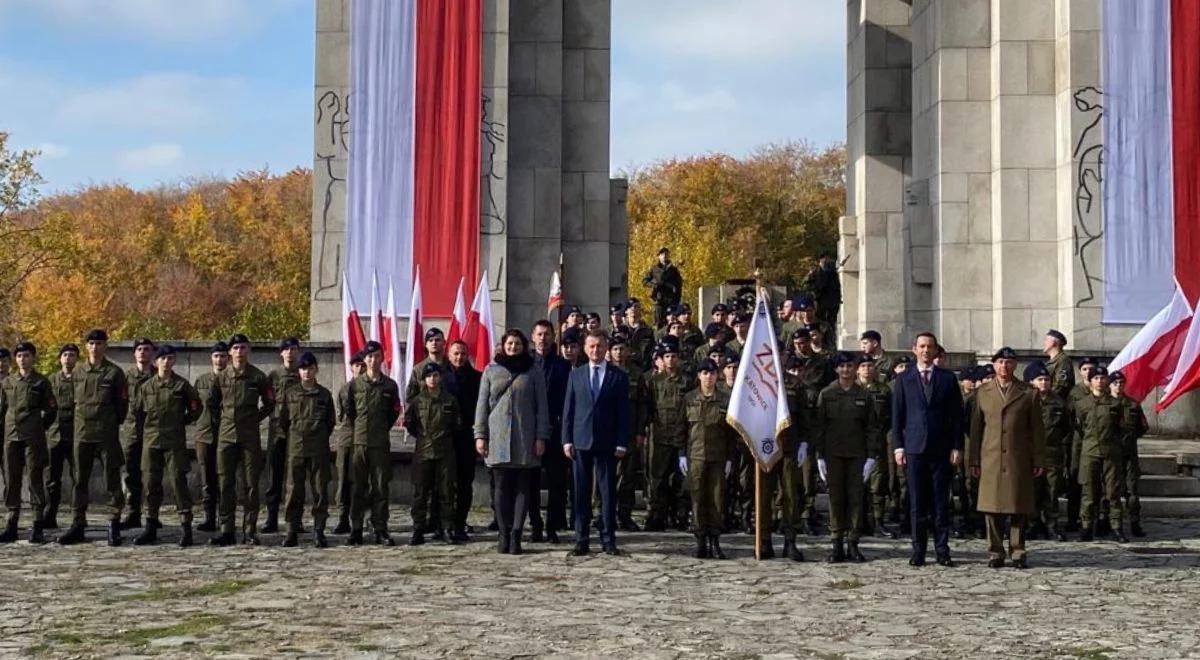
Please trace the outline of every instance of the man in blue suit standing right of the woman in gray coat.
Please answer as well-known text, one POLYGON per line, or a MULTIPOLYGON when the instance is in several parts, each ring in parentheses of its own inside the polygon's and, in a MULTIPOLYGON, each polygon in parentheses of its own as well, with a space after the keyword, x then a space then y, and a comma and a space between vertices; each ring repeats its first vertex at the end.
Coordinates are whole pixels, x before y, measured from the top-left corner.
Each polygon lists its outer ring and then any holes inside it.
POLYGON ((617 554, 617 458, 629 449, 629 377, 605 359, 608 341, 590 332, 583 342, 588 361, 575 367, 563 403, 563 454, 575 466, 575 547, 570 554, 589 552, 592 479, 600 491, 604 523, 600 542, 617 554))

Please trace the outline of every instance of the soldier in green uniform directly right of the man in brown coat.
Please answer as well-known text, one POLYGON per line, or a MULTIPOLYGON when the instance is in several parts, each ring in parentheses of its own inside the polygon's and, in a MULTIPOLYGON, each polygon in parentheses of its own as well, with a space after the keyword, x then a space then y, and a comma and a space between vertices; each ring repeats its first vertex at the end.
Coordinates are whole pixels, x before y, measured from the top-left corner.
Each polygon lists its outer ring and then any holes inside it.
MULTIPOLYGON (((1074 378, 1074 376, 1073 376, 1074 378)), ((1067 491, 1067 458, 1070 452, 1072 418, 1067 400, 1054 391, 1054 380, 1043 365, 1033 365, 1025 372, 1025 379, 1038 390, 1042 406, 1042 426, 1045 428, 1045 473, 1034 480, 1040 524, 1038 530, 1058 541, 1067 535, 1058 526, 1058 498, 1067 491)), ((1032 536, 1033 534, 1031 534, 1032 536)))

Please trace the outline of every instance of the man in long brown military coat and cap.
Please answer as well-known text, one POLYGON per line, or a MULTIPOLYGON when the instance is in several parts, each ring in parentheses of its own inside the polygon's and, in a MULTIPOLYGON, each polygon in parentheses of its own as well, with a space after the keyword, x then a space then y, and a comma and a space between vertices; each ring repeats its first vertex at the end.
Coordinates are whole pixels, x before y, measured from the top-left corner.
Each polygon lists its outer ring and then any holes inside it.
POLYGON ((1025 521, 1037 515, 1034 480, 1045 467, 1042 404, 1028 385, 1014 378, 1016 353, 1002 348, 991 358, 996 378, 976 390, 971 415, 971 473, 979 480, 978 510, 988 526, 988 565, 1004 565, 1002 526, 1008 518, 1008 556, 1027 566, 1025 521))

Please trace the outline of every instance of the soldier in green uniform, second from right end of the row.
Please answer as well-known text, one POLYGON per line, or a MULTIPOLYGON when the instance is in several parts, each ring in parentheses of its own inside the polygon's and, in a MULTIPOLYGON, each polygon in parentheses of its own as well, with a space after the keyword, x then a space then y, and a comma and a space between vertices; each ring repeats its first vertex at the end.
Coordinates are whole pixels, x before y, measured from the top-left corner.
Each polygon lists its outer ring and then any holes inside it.
POLYGON ((1121 433, 1127 427, 1124 407, 1109 394, 1109 372, 1097 366, 1088 376, 1091 391, 1075 402, 1075 427, 1084 438, 1080 450, 1079 484, 1084 498, 1080 541, 1096 536, 1100 498, 1109 500, 1109 522, 1117 540, 1128 541, 1121 526, 1124 497, 1124 448, 1121 433))

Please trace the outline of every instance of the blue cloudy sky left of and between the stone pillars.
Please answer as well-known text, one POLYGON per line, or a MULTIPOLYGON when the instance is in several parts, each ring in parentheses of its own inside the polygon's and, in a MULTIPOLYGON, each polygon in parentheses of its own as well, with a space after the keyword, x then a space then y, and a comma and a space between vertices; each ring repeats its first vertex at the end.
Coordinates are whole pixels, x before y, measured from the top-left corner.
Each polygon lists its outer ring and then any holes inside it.
MULTIPOLYGON (((613 0, 613 170, 842 139, 840 0, 613 0)), ((0 0, 0 130, 44 190, 312 164, 312 0, 0 0)))

